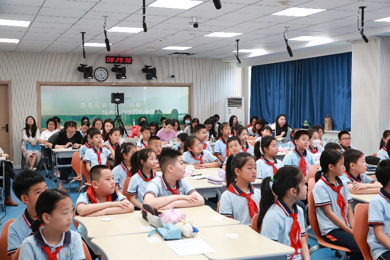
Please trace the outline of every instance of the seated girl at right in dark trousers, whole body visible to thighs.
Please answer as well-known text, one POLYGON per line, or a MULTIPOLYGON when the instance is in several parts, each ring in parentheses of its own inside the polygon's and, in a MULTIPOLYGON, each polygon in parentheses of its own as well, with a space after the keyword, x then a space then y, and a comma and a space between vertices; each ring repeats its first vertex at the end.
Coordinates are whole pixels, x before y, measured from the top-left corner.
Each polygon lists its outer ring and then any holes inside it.
POLYGON ((353 238, 354 217, 348 185, 340 179, 345 170, 344 157, 336 150, 325 150, 320 165, 313 196, 321 235, 328 243, 348 248, 352 252, 350 260, 363 259, 353 238))

